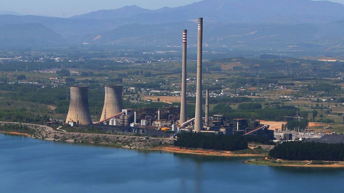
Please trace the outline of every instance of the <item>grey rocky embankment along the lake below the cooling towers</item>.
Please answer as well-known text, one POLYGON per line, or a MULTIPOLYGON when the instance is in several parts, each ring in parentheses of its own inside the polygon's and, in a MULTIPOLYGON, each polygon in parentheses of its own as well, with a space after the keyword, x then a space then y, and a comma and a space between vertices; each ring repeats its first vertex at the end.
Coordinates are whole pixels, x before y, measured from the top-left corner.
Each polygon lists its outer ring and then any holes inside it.
MULTIPOLYGON (((12 122, 0 122, 0 132, 9 133, 8 130, 2 129, 2 126, 8 124, 17 124, 12 122)), ((173 139, 166 138, 149 138, 145 137, 134 137, 134 136, 123 136, 123 135, 106 135, 106 134, 89 134, 89 133, 71 133, 71 132, 60 132, 56 131, 51 127, 43 125, 35 125, 22 123, 32 129, 34 129, 31 137, 36 139, 44 140, 55 140, 55 141, 68 141, 76 143, 95 143, 95 144, 107 144, 122 146, 124 148, 153 148, 163 145, 173 145, 173 139)), ((23 130, 11 130, 11 132, 24 133, 23 130)))

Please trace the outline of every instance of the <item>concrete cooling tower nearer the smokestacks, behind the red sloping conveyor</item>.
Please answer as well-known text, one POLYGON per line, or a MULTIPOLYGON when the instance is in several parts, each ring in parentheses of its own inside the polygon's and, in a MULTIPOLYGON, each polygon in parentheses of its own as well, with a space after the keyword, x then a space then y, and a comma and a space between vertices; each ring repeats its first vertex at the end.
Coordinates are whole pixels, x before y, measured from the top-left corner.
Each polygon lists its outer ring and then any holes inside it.
POLYGON ((122 90, 123 86, 105 85, 105 100, 100 121, 122 112, 122 90))

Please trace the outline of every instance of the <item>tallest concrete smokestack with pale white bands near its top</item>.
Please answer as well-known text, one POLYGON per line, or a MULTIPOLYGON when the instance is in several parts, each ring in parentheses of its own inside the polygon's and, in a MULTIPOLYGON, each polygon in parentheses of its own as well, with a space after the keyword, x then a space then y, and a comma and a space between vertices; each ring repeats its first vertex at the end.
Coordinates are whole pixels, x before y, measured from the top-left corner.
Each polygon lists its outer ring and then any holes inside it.
POLYGON ((202 120, 202 47, 203 47, 203 18, 198 18, 197 38, 197 89, 196 89, 196 112, 195 132, 201 132, 202 120))

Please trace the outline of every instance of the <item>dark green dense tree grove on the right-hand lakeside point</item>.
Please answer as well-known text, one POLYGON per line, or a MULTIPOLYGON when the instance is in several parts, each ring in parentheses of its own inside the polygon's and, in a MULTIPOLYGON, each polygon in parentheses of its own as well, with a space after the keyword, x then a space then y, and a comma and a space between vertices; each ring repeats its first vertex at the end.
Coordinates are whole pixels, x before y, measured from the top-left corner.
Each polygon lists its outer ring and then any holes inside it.
POLYGON ((286 160, 344 161, 344 144, 288 141, 271 149, 269 157, 286 160))

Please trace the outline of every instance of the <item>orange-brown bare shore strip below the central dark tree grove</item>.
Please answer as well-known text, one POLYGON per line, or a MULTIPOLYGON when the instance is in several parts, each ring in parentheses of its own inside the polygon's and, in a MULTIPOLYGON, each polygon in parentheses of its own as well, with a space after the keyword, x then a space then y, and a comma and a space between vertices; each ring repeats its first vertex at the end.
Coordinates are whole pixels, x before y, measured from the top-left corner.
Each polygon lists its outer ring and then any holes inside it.
POLYGON ((207 149, 193 149, 193 148, 180 148, 179 146, 162 146, 162 147, 155 147, 149 148, 149 150, 160 150, 160 151, 168 151, 173 153, 181 153, 181 154, 195 154, 195 155, 203 155, 203 156, 227 156, 227 157, 264 157, 266 154, 238 154, 233 153, 231 151, 223 151, 223 150, 207 150, 207 149))

